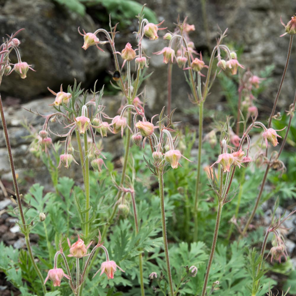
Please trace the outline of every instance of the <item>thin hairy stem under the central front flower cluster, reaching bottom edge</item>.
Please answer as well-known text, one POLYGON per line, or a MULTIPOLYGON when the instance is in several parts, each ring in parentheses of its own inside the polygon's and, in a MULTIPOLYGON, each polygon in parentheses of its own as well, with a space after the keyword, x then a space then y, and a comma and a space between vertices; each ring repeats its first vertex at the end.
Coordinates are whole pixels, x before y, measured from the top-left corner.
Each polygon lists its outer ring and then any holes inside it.
POLYGON ((164 205, 164 194, 163 194, 163 168, 157 169, 158 175, 158 183, 159 183, 159 197, 160 197, 160 210, 161 210, 161 220, 162 220, 162 227, 163 227, 163 247, 165 251, 165 261, 167 265, 167 272, 168 272, 168 284, 170 287, 170 295, 174 295, 173 289, 173 280, 172 274, 170 270, 170 258, 168 253, 168 239, 167 239, 167 231, 166 231, 166 224, 165 224, 165 205, 164 205))

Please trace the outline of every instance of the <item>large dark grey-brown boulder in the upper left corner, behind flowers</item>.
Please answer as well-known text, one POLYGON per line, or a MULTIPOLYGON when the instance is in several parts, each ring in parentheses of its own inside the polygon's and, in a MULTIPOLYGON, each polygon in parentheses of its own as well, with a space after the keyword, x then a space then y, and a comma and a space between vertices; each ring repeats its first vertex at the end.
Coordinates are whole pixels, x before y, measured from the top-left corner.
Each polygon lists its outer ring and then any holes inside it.
MULTIPOLYGON (((90 48, 81 48, 83 37, 77 28, 86 32, 95 30, 94 22, 86 15, 81 17, 59 8, 54 1, 14 0, 1 7, 0 34, 11 34, 25 28, 17 37, 21 41, 22 61, 32 65, 26 79, 17 73, 3 79, 1 91, 21 99, 47 93, 47 87, 57 89, 64 83, 93 81, 106 68, 110 54, 90 48)), ((11 54, 12 58, 13 54, 11 54)), ((12 63, 16 60, 12 59, 12 63)))

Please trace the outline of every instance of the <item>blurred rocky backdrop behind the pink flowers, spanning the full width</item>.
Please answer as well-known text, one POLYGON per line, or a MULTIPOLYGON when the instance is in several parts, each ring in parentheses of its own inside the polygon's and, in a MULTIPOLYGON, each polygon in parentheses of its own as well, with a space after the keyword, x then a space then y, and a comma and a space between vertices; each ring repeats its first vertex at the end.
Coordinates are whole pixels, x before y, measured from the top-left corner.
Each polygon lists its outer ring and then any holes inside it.
MULTIPOLYGON (((272 77, 274 83, 266 89, 258 98, 264 111, 269 113, 279 85, 287 56, 289 36, 279 37, 284 33, 284 27, 280 23, 280 17, 287 23, 296 11, 296 1, 291 0, 0 0, 0 32, 1 36, 12 34, 20 28, 25 28, 18 38, 21 40, 22 60, 28 62, 36 70, 29 70, 27 78, 21 79, 16 73, 3 79, 1 96, 6 105, 6 114, 10 126, 10 135, 16 166, 18 169, 36 168, 37 164, 32 157, 24 156, 30 144, 30 140, 23 136, 28 131, 22 127, 23 118, 37 126, 42 119, 35 118, 31 113, 21 109, 22 104, 32 110, 41 110, 41 113, 50 112, 49 102, 54 97, 47 91, 47 87, 58 91, 61 84, 64 89, 73 84, 74 78, 82 82, 82 87, 89 89, 98 79, 97 87, 105 84, 104 102, 110 109, 106 112, 110 116, 116 114, 119 108, 121 96, 114 94, 110 86, 110 78, 114 71, 112 54, 108 45, 102 46, 104 52, 94 46, 84 51, 83 38, 78 34, 78 27, 86 32, 94 32, 97 28, 109 30, 109 14, 112 24, 120 22, 116 35, 116 49, 121 52, 127 42, 136 46, 135 34, 138 30, 137 19, 141 5, 147 3, 147 7, 154 11, 147 15, 149 20, 160 22, 165 20, 163 26, 173 31, 178 15, 183 20, 188 16, 188 23, 194 24, 196 30, 190 33, 197 52, 202 52, 205 60, 210 55, 215 38, 218 36, 217 25, 221 30, 228 30, 226 42, 234 48, 240 49, 242 54, 239 62, 255 75, 260 76, 260 70, 268 65, 274 65, 272 77), (114 95, 113 95, 114 94, 114 95), (35 109, 34 109, 35 108, 35 109), (35 120, 34 120, 35 118, 35 120)), ((163 36, 164 31, 160 31, 163 36)), ((154 74, 146 81, 149 114, 157 114, 166 102, 167 65, 163 64, 162 56, 153 52, 161 50, 167 45, 167 41, 159 38, 157 41, 149 41, 145 38, 146 53, 151 57, 148 71, 154 74)), ((292 49, 290 64, 281 92, 279 108, 288 107, 292 101, 295 89, 295 44, 292 49)), ((119 57, 120 59, 120 57, 119 57)), ((15 60, 11 61, 16 62, 15 60)), ((172 107, 178 108, 181 114, 184 108, 192 107, 189 102, 187 86, 183 70, 174 65, 172 78, 172 107)), ((225 101, 221 93, 219 83, 211 89, 206 107, 219 108, 225 101)), ((178 118, 178 114, 176 115, 178 118)), ((197 117, 196 117, 197 118, 197 117)), ((193 117, 186 118, 184 122, 195 123, 193 117)), ((179 119, 179 118, 178 118, 179 119)), ((3 132, 0 133, 3 138, 3 132)), ((114 157, 120 156, 120 149, 114 145, 114 139, 110 137, 112 145, 105 147, 113 152, 114 157)), ((108 145, 108 143, 104 143, 108 145)), ((0 173, 9 172, 9 164, 6 154, 5 141, 1 141, 0 149, 0 173)))

